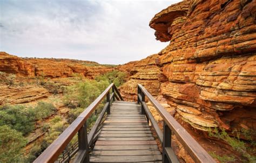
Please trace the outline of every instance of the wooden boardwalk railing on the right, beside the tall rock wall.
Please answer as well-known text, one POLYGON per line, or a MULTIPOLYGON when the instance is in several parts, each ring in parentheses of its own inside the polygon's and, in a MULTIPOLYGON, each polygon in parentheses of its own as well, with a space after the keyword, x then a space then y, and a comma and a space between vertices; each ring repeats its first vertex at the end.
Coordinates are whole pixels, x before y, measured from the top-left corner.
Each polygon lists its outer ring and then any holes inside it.
POLYGON ((163 147, 163 162, 179 162, 171 147, 171 133, 173 132, 186 151, 196 162, 215 162, 215 160, 201 147, 196 140, 176 121, 169 112, 140 84, 138 84, 138 103, 142 105, 142 114, 151 122, 163 147), (145 103, 145 96, 153 104, 164 120, 164 133, 161 132, 145 103))

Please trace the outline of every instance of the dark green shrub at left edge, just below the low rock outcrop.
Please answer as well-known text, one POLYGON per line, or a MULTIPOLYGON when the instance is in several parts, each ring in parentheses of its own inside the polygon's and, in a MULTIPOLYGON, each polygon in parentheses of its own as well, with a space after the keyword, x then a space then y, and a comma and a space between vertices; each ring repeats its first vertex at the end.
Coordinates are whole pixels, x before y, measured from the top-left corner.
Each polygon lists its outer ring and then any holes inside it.
POLYGON ((28 134, 35 128, 35 111, 21 105, 6 105, 0 107, 0 126, 8 125, 11 128, 28 134))

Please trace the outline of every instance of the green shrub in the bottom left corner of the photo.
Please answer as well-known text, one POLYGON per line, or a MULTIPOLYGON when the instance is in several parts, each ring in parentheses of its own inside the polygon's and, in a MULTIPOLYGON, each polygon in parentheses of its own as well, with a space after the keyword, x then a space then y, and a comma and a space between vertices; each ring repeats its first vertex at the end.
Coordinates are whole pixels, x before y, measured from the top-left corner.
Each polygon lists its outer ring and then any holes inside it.
POLYGON ((26 139, 7 125, 0 126, 0 162, 23 162, 26 139))

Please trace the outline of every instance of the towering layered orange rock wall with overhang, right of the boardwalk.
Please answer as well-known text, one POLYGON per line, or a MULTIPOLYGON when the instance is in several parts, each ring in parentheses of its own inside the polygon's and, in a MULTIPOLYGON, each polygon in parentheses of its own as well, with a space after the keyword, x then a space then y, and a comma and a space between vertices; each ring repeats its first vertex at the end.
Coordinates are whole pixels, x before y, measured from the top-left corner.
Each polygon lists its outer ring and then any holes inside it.
MULTIPOLYGON (((162 95, 175 117, 197 130, 256 129, 256 2, 183 1, 150 22, 156 39, 170 41, 136 62, 120 91, 136 99, 140 83, 162 95)), ((124 67, 127 65, 124 65, 124 67)))

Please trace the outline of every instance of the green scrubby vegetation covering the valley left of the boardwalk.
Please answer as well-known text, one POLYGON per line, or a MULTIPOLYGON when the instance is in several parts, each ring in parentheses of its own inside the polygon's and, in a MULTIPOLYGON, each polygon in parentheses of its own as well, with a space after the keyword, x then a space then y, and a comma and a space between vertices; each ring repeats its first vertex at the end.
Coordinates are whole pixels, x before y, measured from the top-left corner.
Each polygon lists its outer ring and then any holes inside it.
MULTIPOLYGON (((125 76, 126 74, 123 72, 112 71, 97 76, 95 77, 96 79, 86 79, 77 73, 73 74, 72 79, 70 79, 71 84, 69 85, 65 85, 66 82, 70 82, 68 78, 64 80, 65 83, 63 85, 63 83, 57 83, 50 78, 45 79, 44 77, 26 79, 24 81, 27 82, 20 85, 20 79, 14 74, 1 72, 0 83, 2 85, 8 85, 12 88, 18 87, 19 90, 23 86, 44 87, 53 96, 60 96, 57 102, 62 103, 63 106, 68 108, 68 112, 64 114, 58 113, 58 108, 50 100, 47 102, 39 100, 33 105, 11 105, 8 103, 1 105, 0 147, 2 151, 0 162, 32 162, 35 160, 110 83, 114 82, 119 86, 124 82, 125 76), (62 93, 63 96, 59 93, 62 93), (43 135, 43 139, 35 142, 30 150, 24 154, 24 147, 32 140, 30 135, 36 134, 37 132, 43 135), (14 149, 12 147, 15 144, 19 145, 14 149), (14 156, 11 160, 9 159, 10 155, 14 156)), ((95 123, 102 107, 103 104, 100 104, 97 112, 87 120, 89 128, 95 123)), ((76 141, 77 138, 75 137, 70 145, 76 141)))

